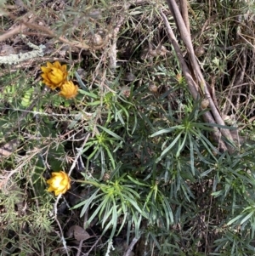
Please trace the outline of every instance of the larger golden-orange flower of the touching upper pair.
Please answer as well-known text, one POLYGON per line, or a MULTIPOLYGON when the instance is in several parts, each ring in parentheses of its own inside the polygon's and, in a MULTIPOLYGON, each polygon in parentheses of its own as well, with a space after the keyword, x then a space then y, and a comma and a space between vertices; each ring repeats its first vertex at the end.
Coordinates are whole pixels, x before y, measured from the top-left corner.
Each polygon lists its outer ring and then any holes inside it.
POLYGON ((60 65, 59 61, 55 61, 54 64, 47 62, 47 66, 41 66, 41 70, 42 82, 53 90, 61 87, 66 81, 66 65, 60 65))

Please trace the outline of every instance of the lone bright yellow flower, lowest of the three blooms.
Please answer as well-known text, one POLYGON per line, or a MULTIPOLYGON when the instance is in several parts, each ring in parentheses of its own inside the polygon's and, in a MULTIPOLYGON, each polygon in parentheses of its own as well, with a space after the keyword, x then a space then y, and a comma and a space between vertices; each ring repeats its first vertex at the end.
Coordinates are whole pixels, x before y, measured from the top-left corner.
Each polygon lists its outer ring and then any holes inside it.
POLYGON ((51 175, 52 178, 47 180, 49 185, 48 192, 54 191, 55 196, 59 196, 59 194, 65 194, 65 192, 71 188, 71 179, 64 172, 60 171, 59 173, 52 173, 51 175))

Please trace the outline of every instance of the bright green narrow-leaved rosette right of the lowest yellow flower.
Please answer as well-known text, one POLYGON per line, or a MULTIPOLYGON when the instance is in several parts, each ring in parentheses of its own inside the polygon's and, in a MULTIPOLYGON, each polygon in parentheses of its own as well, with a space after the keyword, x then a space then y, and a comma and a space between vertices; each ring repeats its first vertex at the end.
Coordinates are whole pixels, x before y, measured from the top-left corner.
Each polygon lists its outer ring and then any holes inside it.
MULTIPOLYGON (((119 168, 115 174, 119 172, 119 168)), ((139 193, 135 191, 136 186, 130 179, 125 179, 125 174, 118 177, 116 174, 113 180, 107 180, 106 184, 93 184, 99 189, 92 191, 88 195, 88 199, 77 204, 75 208, 83 206, 81 217, 88 210, 94 207, 94 213, 88 219, 88 224, 96 217, 99 217, 102 227, 106 230, 111 228, 110 240, 116 235, 117 224, 122 219, 121 225, 118 227, 119 233, 123 226, 128 222, 134 225, 135 234, 139 234, 139 226, 141 218, 148 219, 147 211, 144 211, 139 193), (109 221, 110 219, 110 221, 109 221)), ((87 179, 86 179, 87 180, 87 179)), ((87 180, 89 182, 89 180, 87 180)), ((85 182, 86 183, 86 182, 85 182)))

